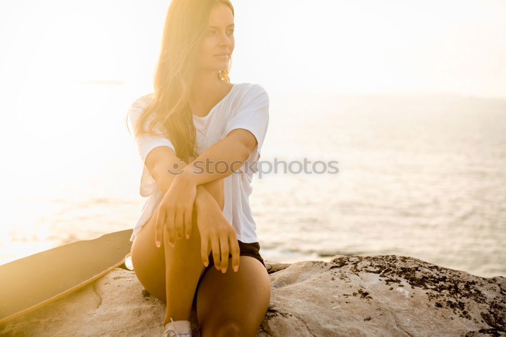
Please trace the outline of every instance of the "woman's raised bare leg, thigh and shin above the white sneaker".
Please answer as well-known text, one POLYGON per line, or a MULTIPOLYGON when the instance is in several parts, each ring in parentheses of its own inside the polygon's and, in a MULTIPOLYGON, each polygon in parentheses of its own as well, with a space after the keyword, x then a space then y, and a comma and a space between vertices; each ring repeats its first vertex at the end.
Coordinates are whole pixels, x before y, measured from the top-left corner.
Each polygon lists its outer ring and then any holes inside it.
MULTIPOLYGON (((223 179, 203 185, 223 207, 223 179)), ((195 210, 189 239, 177 239, 176 246, 167 244, 167 235, 158 248, 154 240, 154 216, 137 234, 132 244, 132 264, 139 281, 153 296, 167 303, 163 324, 190 320, 191 305, 204 270, 200 256, 200 233, 195 210)), ((211 247, 209 247, 208 254, 211 247)))

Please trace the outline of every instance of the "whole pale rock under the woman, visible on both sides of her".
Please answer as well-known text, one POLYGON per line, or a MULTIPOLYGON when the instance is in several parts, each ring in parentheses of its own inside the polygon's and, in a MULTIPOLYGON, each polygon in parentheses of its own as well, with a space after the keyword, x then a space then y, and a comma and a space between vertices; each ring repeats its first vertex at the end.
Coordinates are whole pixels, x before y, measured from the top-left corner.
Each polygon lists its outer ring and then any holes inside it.
MULTIPOLYGON (((271 303, 257 336, 506 336, 506 278, 395 256, 265 261, 271 303)), ((159 336, 165 304, 116 268, 0 327, 13 336, 159 336)), ((192 329, 198 336, 195 307, 192 329)))

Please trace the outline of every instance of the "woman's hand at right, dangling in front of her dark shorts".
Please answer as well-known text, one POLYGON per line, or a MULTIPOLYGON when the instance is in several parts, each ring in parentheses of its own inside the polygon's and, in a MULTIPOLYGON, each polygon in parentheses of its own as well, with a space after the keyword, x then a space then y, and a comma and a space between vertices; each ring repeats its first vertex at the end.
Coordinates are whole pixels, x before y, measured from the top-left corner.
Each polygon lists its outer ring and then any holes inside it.
POLYGON ((222 273, 227 271, 230 253, 232 266, 236 272, 239 269, 239 242, 234 228, 225 218, 216 201, 204 205, 197 204, 197 227, 200 232, 200 255, 204 266, 209 265, 207 250, 211 241, 216 269, 221 269, 222 273))

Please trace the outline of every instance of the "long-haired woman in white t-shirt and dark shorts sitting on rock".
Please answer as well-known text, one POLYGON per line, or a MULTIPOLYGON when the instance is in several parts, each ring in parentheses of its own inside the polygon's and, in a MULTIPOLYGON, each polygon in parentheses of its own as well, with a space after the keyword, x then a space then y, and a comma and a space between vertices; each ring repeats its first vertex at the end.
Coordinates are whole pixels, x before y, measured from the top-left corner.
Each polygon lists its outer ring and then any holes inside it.
POLYGON ((167 304, 164 336, 191 336, 194 299, 203 337, 254 336, 269 305, 248 200, 269 98, 258 84, 230 83, 233 32, 228 0, 173 0, 154 93, 128 114, 148 197, 131 238, 132 264, 167 304))

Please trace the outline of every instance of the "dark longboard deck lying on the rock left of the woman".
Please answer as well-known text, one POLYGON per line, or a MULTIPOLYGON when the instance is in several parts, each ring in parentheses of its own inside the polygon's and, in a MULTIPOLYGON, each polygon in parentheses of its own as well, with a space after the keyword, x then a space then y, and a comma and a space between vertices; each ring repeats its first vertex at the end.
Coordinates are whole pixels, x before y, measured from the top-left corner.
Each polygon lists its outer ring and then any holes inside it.
POLYGON ((131 235, 131 229, 108 233, 1 265, 0 324, 58 300, 114 268, 125 268, 131 235))

